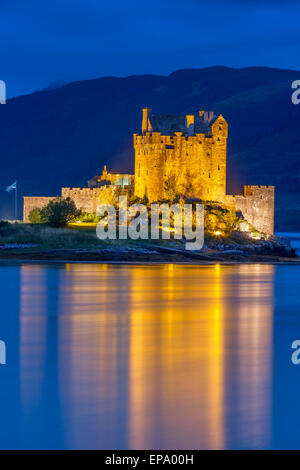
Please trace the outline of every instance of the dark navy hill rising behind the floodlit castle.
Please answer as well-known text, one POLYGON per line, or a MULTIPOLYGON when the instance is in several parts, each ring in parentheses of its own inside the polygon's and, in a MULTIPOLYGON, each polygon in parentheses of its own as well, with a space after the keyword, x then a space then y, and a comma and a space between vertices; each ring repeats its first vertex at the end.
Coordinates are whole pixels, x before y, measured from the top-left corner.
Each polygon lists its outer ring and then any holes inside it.
MULTIPOLYGON (((133 171, 132 134, 141 108, 154 113, 222 113, 229 122, 228 191, 276 185, 276 222, 300 231, 300 105, 291 83, 300 72, 250 67, 179 70, 168 77, 104 77, 8 100, 0 106, 0 217, 12 217, 13 195, 56 195, 85 186, 105 163, 133 171)), ((21 215, 21 213, 20 213, 21 215)))

